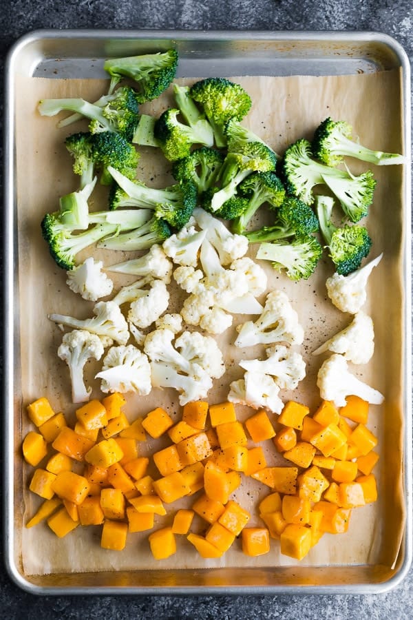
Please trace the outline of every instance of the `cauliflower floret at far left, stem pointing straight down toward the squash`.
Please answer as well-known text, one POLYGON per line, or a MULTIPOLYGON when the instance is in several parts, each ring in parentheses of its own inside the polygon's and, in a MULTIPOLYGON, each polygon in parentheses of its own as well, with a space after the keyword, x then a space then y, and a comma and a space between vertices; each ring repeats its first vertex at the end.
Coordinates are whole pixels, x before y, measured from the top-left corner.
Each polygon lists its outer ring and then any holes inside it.
POLYGON ((87 360, 91 358, 100 360, 103 351, 103 344, 99 336, 85 329, 74 329, 63 336, 57 354, 69 366, 70 380, 72 381, 72 402, 89 400, 92 388, 85 386, 83 369, 87 360))

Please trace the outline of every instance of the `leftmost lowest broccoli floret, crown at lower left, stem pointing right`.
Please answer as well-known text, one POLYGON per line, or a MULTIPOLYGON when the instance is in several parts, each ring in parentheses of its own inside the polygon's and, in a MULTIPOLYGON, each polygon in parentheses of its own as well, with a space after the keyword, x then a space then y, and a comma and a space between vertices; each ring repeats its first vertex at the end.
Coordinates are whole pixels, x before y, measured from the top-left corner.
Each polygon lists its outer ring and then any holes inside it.
POLYGON ((49 246, 50 254, 62 269, 70 271, 76 265, 75 257, 78 252, 107 235, 116 233, 115 224, 96 224, 83 233, 74 234, 68 229, 56 214, 46 214, 41 221, 43 238, 49 246))

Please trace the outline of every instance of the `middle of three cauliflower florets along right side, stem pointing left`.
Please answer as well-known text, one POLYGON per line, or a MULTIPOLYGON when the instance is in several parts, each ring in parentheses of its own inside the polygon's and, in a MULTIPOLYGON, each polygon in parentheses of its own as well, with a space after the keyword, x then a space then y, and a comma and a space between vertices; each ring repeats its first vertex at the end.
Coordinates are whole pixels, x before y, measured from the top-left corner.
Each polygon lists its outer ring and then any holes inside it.
POLYGON ((367 364, 374 352, 374 328, 371 317, 359 311, 348 327, 321 344, 321 347, 313 351, 313 355, 325 351, 341 353, 353 364, 367 364))

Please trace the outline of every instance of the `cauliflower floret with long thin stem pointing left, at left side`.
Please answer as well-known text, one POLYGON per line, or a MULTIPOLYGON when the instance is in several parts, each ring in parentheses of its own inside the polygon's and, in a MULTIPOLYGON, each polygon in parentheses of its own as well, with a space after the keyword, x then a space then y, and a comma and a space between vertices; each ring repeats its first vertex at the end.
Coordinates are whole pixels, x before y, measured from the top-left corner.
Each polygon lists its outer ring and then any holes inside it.
POLYGON ((91 333, 96 333, 100 338, 105 338, 104 344, 109 344, 113 340, 118 344, 127 343, 129 330, 118 304, 113 301, 98 302, 94 305, 93 312, 94 317, 84 320, 64 314, 49 314, 47 318, 59 325, 66 325, 75 329, 87 329, 91 333))

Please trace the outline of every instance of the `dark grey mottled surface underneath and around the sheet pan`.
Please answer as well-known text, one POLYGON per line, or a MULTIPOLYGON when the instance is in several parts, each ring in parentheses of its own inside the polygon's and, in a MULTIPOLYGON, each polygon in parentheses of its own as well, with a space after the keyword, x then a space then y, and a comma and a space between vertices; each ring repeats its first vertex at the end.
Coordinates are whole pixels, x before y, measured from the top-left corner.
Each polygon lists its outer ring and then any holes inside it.
MULTIPOLYGON (((0 70, 37 28, 376 30, 413 59, 412 0, 2 0, 0 70)), ((277 597, 34 597, 0 574, 0 617, 11 619, 407 619, 413 569, 383 595, 277 597)))

